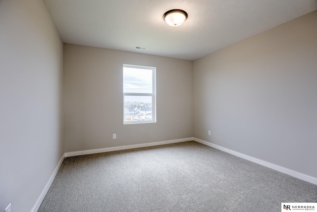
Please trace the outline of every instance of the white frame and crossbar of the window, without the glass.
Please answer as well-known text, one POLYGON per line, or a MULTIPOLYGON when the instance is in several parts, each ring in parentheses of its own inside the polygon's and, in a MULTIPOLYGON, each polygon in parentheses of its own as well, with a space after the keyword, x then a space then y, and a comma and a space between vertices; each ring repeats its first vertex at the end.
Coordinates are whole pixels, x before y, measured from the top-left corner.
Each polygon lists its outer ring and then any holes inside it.
MULTIPOLYGON (((152 94, 151 93, 124 93, 123 92, 123 124, 143 124, 143 123, 156 123, 157 122, 157 101, 156 101, 156 67, 142 66, 142 65, 129 65, 123 64, 122 68, 122 83, 123 83, 123 69, 138 68, 138 69, 152 69, 152 94), (124 120, 124 97, 125 96, 152 96, 152 120, 140 120, 140 121, 125 121, 124 120)), ((123 85, 122 85, 123 89, 123 85)))

